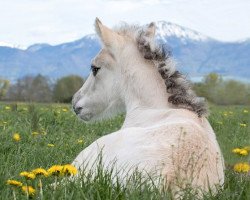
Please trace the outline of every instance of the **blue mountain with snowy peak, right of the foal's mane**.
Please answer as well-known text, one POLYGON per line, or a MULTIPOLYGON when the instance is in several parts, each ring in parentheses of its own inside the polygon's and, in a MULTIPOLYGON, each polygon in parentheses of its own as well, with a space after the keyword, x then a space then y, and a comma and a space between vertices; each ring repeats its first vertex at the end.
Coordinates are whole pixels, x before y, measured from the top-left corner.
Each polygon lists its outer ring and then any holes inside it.
POLYGON ((216 72, 249 79, 250 40, 221 42, 168 22, 159 22, 157 27, 158 39, 172 49, 181 71, 190 76, 216 72))

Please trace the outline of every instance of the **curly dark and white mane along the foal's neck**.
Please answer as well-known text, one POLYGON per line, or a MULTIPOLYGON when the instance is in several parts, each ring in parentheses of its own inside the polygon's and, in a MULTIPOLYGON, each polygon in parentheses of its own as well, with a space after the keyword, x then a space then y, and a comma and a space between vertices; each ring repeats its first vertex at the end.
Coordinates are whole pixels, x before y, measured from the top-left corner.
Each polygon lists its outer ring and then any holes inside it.
POLYGON ((183 74, 176 70, 171 52, 167 50, 166 46, 158 44, 154 38, 149 38, 145 29, 140 26, 123 24, 115 31, 133 38, 142 56, 154 63, 165 81, 167 93, 170 94, 169 103, 178 108, 193 111, 199 117, 207 115, 208 109, 205 99, 197 97, 192 90, 192 84, 183 74))

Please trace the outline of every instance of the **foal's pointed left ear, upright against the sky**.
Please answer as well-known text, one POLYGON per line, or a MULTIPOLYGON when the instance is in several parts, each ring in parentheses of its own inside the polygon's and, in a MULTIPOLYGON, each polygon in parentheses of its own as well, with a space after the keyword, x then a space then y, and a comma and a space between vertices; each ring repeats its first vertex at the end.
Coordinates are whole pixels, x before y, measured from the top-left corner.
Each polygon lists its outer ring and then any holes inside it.
POLYGON ((118 48, 118 45, 122 40, 121 36, 107 26, 103 25, 98 18, 95 20, 95 30, 107 48, 110 50, 116 50, 118 48))

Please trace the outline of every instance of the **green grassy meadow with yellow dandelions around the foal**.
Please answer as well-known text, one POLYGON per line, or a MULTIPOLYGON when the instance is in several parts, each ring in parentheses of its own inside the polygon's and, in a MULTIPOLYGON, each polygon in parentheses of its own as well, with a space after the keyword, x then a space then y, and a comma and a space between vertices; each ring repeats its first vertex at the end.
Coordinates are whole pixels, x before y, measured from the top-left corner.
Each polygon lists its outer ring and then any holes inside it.
MULTIPOLYGON (((68 164, 95 139, 121 127, 124 117, 95 124, 84 124, 64 104, 0 104, 0 199, 27 199, 19 189, 6 184, 16 179, 32 185, 34 199, 171 199, 167 191, 144 184, 140 178, 134 185, 122 187, 111 184, 110 174, 100 170, 98 175, 77 182, 65 182, 54 189, 55 177, 25 181, 22 171, 38 167, 68 164), (16 135, 18 133, 20 138, 16 135)), ((249 155, 232 152, 236 147, 250 145, 250 107, 212 106, 209 120, 215 129, 226 163, 224 189, 205 199, 250 199, 249 172, 235 172, 234 164, 248 162, 249 155)), ((129 152, 128 152, 129 153, 129 152)), ((60 177, 59 177, 60 178, 60 177)), ((191 197, 186 197, 191 199, 191 197)))

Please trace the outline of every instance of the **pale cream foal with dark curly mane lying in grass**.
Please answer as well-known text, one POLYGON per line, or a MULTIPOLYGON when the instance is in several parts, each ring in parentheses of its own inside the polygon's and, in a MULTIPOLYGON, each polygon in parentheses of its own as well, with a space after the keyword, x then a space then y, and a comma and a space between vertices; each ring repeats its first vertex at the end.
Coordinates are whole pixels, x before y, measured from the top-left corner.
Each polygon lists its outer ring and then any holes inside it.
POLYGON ((105 169, 115 162, 120 180, 137 169, 161 176, 174 191, 187 185, 215 191, 224 182, 216 136, 200 99, 157 51, 154 25, 113 31, 97 20, 96 29, 104 47, 73 108, 85 121, 122 110, 126 118, 121 130, 93 142, 72 164, 95 171, 101 153, 105 169))

